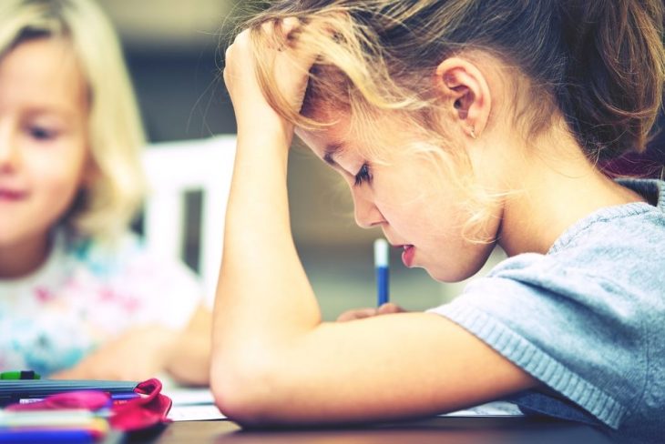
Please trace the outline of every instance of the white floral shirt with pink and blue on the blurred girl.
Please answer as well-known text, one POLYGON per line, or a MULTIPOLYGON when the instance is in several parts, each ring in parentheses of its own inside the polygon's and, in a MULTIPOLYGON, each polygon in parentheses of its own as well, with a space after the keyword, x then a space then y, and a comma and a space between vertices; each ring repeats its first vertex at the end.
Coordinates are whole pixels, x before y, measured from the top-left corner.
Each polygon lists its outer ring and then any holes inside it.
POLYGON ((0 280, 0 370, 47 376, 128 328, 184 328, 201 297, 189 268, 150 255, 134 234, 111 247, 56 232, 35 273, 0 280))

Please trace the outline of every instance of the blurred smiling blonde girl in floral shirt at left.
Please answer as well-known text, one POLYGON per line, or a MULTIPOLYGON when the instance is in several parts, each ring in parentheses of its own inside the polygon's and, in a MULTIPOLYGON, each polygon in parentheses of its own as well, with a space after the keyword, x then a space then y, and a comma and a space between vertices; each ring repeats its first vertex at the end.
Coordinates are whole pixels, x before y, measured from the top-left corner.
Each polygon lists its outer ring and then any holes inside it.
POLYGON ((199 285, 128 231, 144 141, 111 25, 5 0, 0 29, 0 369, 207 382, 199 285))

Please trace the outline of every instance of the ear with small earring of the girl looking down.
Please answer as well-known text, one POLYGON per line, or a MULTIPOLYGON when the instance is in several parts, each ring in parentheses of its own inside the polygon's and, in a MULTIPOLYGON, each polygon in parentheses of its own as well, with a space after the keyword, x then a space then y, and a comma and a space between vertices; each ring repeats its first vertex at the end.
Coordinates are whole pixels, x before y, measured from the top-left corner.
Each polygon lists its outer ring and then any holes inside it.
POLYGON ((446 58, 436 67, 436 84, 455 123, 471 138, 483 133, 492 99, 483 73, 461 57, 446 58))

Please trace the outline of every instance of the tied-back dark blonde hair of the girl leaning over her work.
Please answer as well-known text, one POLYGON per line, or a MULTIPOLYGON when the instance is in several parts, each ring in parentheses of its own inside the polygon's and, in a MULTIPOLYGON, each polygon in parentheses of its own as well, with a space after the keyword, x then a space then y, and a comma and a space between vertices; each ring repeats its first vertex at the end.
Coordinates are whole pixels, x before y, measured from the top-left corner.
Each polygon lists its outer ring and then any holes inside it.
MULTIPOLYGON (((433 142, 406 149, 438 159, 446 179, 468 191, 468 227, 476 232, 486 214, 471 208, 487 208, 500 196, 478 187, 473 175, 458 174, 470 163, 436 118, 434 82, 427 79, 447 56, 502 61, 521 82, 513 89, 527 91, 528 103, 516 100, 512 110, 527 128, 524 136, 562 116, 593 162, 643 151, 662 102, 662 0, 280 0, 245 25, 262 91, 281 116, 322 127, 314 115, 323 105, 349 110, 352 126, 367 125, 377 112, 403 118, 433 142), (287 17, 302 23, 287 44, 318 55, 301 110, 281 97, 267 51, 275 44, 261 30, 287 17)), ((275 29, 271 38, 284 39, 275 29)))

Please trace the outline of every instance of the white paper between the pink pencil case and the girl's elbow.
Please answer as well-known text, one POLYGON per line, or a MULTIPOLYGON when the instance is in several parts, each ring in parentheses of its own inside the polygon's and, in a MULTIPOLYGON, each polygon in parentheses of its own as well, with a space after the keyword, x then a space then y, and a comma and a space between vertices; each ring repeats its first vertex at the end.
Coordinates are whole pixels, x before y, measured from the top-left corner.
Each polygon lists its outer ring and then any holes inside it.
POLYGON ((169 411, 172 421, 202 421, 210 419, 225 419, 220 409, 215 406, 212 393, 208 388, 188 389, 182 387, 169 387, 162 392, 173 401, 169 411))

